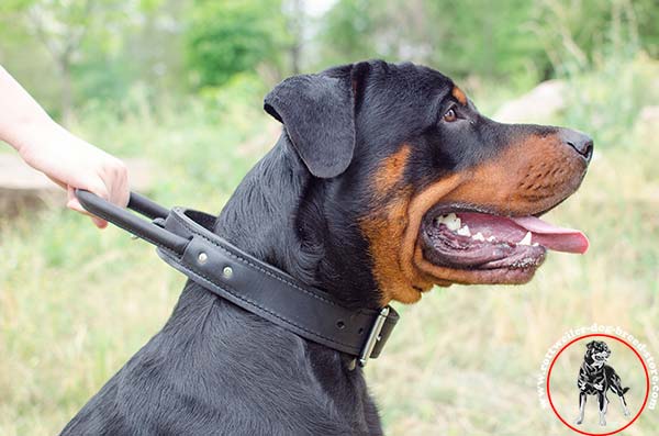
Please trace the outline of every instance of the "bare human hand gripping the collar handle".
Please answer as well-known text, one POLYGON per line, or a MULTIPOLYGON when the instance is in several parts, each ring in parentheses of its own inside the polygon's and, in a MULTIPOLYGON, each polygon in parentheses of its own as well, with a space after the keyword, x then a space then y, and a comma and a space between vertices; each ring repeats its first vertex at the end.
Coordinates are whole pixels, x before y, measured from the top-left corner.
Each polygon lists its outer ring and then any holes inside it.
MULTIPOLYGON (((67 206, 90 215, 78 199, 76 188, 88 190, 121 208, 129 202, 129 174, 118 158, 78 138, 55 124, 35 127, 16 147, 31 167, 44 172, 67 190, 67 206)), ((99 228, 108 223, 96 216, 91 220, 99 228)))

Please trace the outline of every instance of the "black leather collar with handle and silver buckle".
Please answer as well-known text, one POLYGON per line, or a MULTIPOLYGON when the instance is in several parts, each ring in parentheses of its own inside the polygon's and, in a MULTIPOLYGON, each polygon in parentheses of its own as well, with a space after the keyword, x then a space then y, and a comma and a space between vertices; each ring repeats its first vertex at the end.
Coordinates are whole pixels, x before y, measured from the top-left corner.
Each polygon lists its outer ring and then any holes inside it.
POLYGON ((157 247, 163 260, 205 290, 288 331, 355 356, 360 366, 379 356, 398 313, 348 309, 332 295, 308 287, 215 235, 215 216, 183 208, 167 210, 136 193, 129 208, 142 220, 90 192, 78 190, 80 203, 157 247))

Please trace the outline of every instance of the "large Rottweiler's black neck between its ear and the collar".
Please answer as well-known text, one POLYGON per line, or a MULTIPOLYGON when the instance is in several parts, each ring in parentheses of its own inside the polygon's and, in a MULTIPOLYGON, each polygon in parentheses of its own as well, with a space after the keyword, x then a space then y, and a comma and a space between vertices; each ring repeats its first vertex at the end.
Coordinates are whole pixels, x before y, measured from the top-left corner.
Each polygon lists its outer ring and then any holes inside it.
POLYGON ((215 233, 349 306, 377 308, 370 269, 355 261, 368 258, 361 234, 345 214, 338 220, 346 222, 328 224, 327 203, 338 190, 337 180, 311 176, 282 134, 239 183, 215 233))

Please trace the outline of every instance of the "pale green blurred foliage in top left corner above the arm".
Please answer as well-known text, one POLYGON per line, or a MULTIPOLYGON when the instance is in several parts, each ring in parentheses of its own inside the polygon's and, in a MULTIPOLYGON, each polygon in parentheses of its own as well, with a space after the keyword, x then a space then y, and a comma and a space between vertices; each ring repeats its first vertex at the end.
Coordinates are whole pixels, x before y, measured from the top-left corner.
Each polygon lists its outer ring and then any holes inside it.
POLYGON ((171 0, 2 2, 0 62, 57 118, 64 105, 116 104, 139 82, 180 91, 179 10, 171 0))

